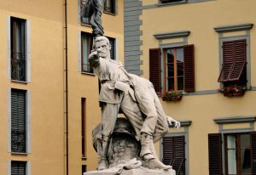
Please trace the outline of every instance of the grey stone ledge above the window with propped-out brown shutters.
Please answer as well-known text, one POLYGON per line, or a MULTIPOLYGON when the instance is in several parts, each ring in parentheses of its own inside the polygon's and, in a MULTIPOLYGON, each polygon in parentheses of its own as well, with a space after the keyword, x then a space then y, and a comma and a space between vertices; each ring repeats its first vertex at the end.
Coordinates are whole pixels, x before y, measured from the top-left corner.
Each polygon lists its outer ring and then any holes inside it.
POLYGON ((252 28, 253 28, 253 23, 246 23, 241 25, 218 26, 218 27, 214 27, 213 29, 218 33, 221 33, 221 32, 231 32, 231 31, 247 31, 247 30, 251 30, 252 28))

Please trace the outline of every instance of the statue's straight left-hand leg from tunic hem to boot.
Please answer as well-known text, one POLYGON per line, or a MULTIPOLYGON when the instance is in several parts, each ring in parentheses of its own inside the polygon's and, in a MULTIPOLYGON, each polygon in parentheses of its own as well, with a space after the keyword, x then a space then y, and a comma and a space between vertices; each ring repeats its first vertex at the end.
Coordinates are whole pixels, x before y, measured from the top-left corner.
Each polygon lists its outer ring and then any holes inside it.
POLYGON ((102 132, 100 139, 97 139, 98 170, 108 167, 107 151, 109 137, 118 116, 119 104, 102 104, 102 132))

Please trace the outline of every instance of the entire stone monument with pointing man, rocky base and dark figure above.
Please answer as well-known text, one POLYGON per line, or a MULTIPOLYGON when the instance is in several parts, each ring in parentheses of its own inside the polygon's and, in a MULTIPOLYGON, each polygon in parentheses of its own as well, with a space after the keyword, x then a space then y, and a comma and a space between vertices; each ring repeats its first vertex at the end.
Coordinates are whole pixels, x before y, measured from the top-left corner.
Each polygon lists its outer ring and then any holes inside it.
POLYGON ((80 15, 90 19, 93 29, 94 50, 89 61, 101 82, 102 108, 102 122, 93 130, 97 171, 84 175, 175 175, 157 157, 154 143, 168 132, 169 125, 178 128, 180 123, 166 116, 151 82, 110 59, 111 46, 103 37, 101 0, 84 0, 83 4, 80 15), (118 117, 120 111, 125 118, 118 117))

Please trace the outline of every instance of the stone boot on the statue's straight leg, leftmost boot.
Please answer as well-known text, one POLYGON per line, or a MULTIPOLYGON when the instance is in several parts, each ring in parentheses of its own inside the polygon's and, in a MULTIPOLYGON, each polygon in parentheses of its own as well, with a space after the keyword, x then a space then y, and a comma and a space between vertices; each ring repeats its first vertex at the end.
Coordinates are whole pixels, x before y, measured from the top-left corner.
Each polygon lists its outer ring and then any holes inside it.
POLYGON ((97 155, 98 155, 98 167, 97 170, 105 170, 108 168, 107 163, 107 150, 108 142, 104 140, 98 140, 97 143, 97 155))

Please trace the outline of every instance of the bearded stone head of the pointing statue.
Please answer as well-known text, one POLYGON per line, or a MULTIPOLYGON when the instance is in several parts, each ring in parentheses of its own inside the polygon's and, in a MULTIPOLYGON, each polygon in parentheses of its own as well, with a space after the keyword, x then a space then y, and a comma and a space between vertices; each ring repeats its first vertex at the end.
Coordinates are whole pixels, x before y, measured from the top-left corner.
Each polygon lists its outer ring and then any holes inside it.
POLYGON ((108 37, 96 37, 93 48, 103 59, 110 59, 110 43, 108 37))

